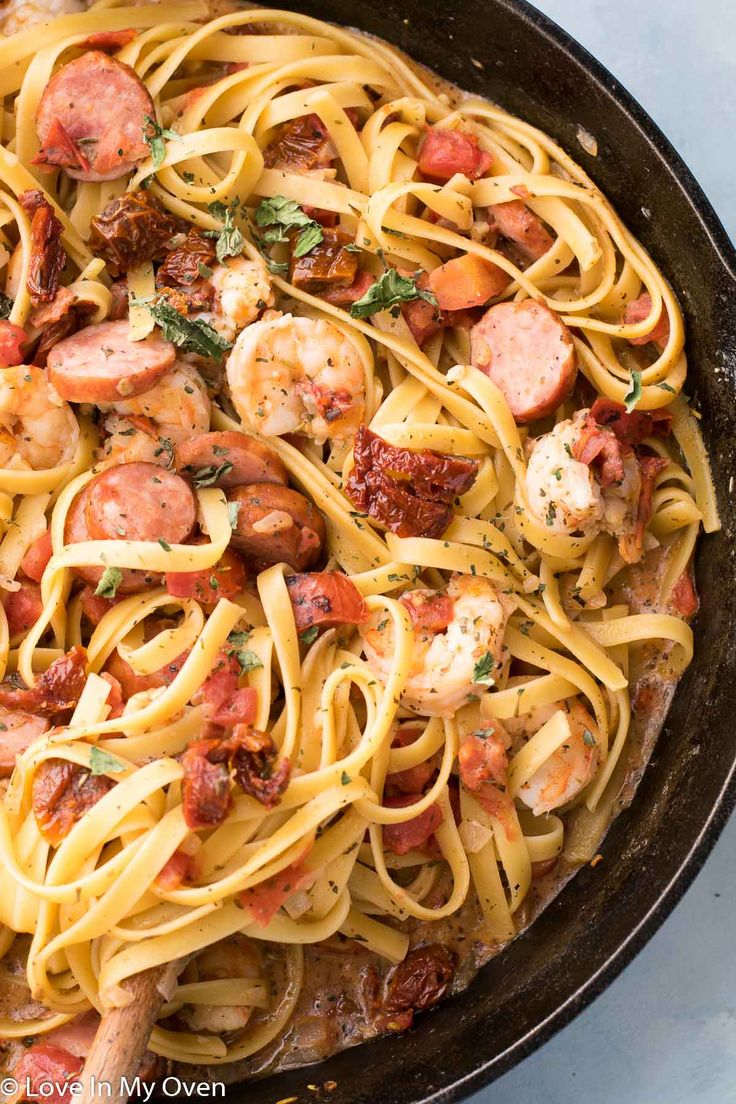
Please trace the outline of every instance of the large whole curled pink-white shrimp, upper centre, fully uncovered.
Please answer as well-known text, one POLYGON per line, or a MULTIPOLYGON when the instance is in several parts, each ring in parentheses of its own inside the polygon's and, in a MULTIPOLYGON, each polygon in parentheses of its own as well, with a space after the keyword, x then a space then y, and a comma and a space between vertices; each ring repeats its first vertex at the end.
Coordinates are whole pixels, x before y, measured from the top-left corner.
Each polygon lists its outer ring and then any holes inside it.
POLYGON ((230 354, 227 382, 243 424, 267 436, 343 440, 365 416, 360 352, 321 318, 273 312, 254 322, 230 354))

